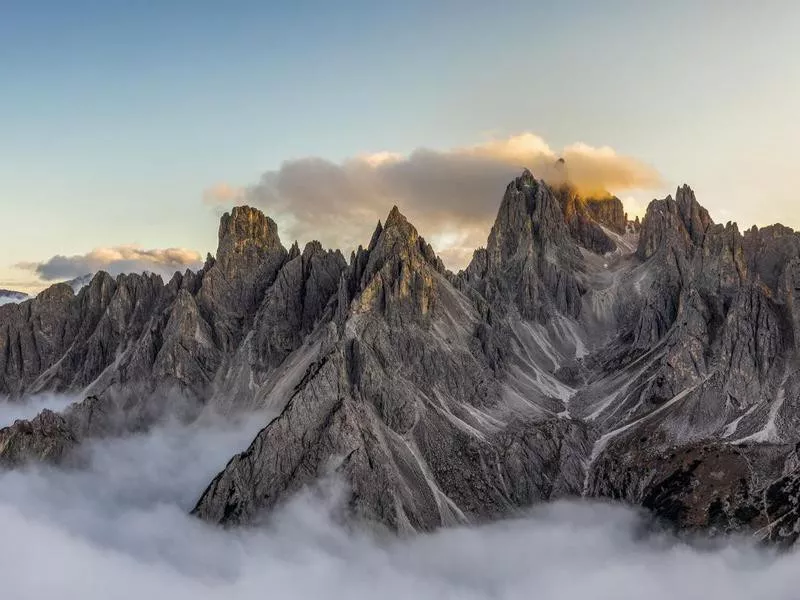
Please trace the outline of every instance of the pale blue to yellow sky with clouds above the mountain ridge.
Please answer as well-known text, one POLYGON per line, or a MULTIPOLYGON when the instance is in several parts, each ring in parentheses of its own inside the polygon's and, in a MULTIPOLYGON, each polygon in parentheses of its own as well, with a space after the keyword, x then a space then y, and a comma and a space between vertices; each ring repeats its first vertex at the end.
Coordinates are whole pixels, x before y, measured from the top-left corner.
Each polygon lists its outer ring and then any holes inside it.
POLYGON ((195 267, 239 202, 286 244, 346 246, 396 201, 457 267, 503 181, 565 154, 587 178, 612 172, 631 214, 686 182, 717 221, 800 228, 793 1, 0 13, 0 288, 195 267))

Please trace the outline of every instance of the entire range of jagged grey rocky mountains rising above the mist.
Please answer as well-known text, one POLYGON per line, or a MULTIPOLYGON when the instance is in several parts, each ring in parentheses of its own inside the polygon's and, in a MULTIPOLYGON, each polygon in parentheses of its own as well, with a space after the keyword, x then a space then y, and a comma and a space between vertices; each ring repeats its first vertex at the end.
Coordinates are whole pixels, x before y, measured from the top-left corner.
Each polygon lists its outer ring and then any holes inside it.
POLYGON ((0 306, 0 394, 85 398, 0 430, 0 464, 261 409, 198 518, 252 523, 333 475, 398 532, 582 496, 790 545, 798 335, 800 234, 717 224, 687 186, 639 223, 525 171, 458 274, 397 208, 346 259, 238 207, 197 272, 0 306))

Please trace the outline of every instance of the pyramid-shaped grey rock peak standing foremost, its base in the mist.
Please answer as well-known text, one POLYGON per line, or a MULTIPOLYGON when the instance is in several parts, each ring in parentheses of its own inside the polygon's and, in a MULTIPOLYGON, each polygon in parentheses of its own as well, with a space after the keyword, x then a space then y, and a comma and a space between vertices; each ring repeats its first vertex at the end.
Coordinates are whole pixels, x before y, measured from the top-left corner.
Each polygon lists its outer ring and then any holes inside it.
POLYGON ((195 514, 246 523, 332 472, 357 515, 399 530, 579 493, 586 427, 524 422, 501 404, 472 337, 478 315, 441 271, 394 209, 342 278, 349 308, 341 333, 329 328, 330 350, 195 514))

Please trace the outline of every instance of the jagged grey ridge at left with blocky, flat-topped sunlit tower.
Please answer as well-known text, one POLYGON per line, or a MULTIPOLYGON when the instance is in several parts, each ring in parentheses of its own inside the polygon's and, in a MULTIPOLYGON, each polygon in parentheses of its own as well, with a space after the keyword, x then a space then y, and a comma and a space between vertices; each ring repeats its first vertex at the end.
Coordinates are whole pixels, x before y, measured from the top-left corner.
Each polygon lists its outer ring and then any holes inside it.
POLYGON ((339 253, 309 245, 294 287, 288 275, 273 286, 281 269, 291 270, 288 259, 275 223, 239 207, 222 218, 217 258, 209 257, 197 273, 176 273, 164 284, 157 275, 114 279, 101 272, 77 295, 59 284, 31 301, 2 306, 0 394, 102 395, 167 387, 198 399, 222 394, 230 385, 223 368, 253 331, 260 309, 271 318, 276 315, 270 308, 280 304, 301 311, 288 324, 298 324, 288 348, 279 343, 285 355, 336 290, 344 268, 339 253))

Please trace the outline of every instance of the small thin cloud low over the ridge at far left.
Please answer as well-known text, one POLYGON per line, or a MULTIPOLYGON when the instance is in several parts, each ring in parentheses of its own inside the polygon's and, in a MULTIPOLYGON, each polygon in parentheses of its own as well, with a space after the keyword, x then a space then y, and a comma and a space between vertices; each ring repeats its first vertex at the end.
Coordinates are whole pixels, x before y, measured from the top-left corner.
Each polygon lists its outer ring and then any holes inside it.
POLYGON ((88 273, 107 271, 111 275, 149 271, 171 277, 175 271, 199 269, 202 257, 186 248, 144 249, 139 246, 114 246, 95 248, 86 254, 56 255, 39 263, 18 263, 20 269, 36 273, 44 281, 74 279, 88 273))

